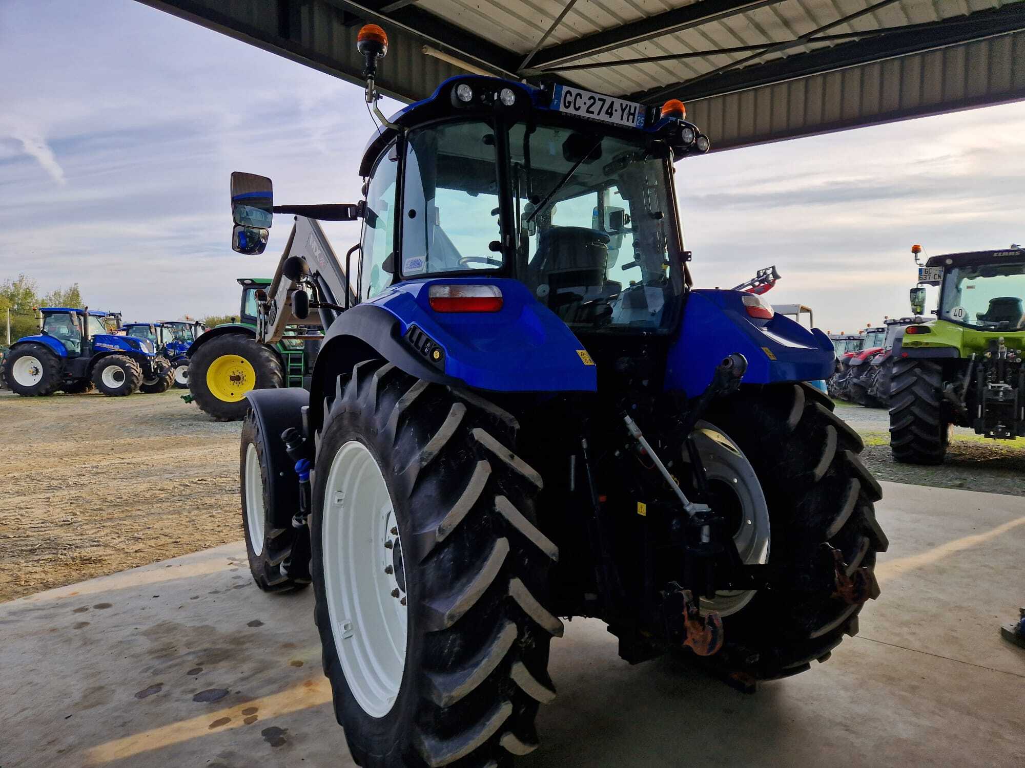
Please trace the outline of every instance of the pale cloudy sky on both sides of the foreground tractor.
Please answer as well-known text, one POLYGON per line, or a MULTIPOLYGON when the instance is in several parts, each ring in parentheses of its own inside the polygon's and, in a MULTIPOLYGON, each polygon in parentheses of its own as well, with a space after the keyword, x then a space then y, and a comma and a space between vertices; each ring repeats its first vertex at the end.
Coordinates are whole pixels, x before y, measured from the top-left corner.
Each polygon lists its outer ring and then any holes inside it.
MULTIPOLYGON (((288 234, 231 250, 231 171, 289 203, 358 199, 361 89, 132 0, 2 0, 0 73, 0 281, 77 282, 127 319, 228 313, 288 234)), ((696 282, 776 264, 767 298, 823 329, 906 314, 912 243, 1025 240, 1023 148, 1017 103, 684 161, 696 282)), ((329 234, 339 252, 357 237, 329 234)))

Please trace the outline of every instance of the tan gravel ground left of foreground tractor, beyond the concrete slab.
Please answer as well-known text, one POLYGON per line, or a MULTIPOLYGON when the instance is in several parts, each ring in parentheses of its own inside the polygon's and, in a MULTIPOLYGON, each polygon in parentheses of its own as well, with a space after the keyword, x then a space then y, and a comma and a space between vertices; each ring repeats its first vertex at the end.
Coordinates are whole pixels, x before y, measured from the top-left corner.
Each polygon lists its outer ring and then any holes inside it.
POLYGON ((0 390, 0 601, 242 538, 241 424, 182 391, 0 390))

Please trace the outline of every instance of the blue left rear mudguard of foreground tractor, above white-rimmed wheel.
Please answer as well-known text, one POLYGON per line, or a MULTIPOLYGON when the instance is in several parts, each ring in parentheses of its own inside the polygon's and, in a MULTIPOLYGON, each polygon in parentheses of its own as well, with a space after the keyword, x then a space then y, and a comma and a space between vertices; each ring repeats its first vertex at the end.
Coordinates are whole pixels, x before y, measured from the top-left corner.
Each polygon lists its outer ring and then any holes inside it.
MULTIPOLYGON (((831 347, 830 347, 831 348, 831 347)), ((593 392, 597 369, 573 332, 515 280, 409 281, 342 312, 321 346, 337 372, 370 356, 411 376, 497 392, 593 392), (489 285, 502 292, 497 312, 438 312, 432 285, 489 285), (368 349, 369 347, 369 349, 368 349)), ((315 387, 319 375, 315 374, 315 387)))

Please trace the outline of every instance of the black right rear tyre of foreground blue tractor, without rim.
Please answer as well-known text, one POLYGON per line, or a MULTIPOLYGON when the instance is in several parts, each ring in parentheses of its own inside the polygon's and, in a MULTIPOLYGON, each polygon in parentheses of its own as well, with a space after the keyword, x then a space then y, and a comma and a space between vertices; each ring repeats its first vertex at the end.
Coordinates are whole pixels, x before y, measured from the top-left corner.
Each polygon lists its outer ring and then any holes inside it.
MULTIPOLYGON (((858 459, 864 443, 831 400, 804 383, 769 385, 742 390, 707 418, 737 442, 762 484, 769 562, 799 579, 828 543, 843 552, 848 574, 869 569, 874 598, 875 555, 889 546, 875 519, 881 488, 858 459)), ((726 645, 709 660, 758 680, 788 677, 857 634, 860 610, 830 591, 760 590, 723 620, 726 645)))

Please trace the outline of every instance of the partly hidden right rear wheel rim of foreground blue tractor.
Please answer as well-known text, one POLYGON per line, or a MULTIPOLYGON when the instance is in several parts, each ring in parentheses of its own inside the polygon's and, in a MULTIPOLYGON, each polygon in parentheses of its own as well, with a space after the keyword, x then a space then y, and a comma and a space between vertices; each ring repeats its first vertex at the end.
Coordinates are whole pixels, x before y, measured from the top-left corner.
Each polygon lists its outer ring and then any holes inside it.
MULTIPOLYGON (((707 422, 698 422, 695 441, 709 485, 713 489, 716 486, 730 488, 737 503, 738 526, 733 531, 733 542, 741 561, 745 565, 769 562, 769 505, 754 468, 737 443, 707 422)), ((684 461, 689 463, 686 449, 684 461)), ((701 611, 716 610, 721 615, 728 616, 746 606, 754 593, 755 590, 716 592, 713 598, 701 598, 701 611)))

